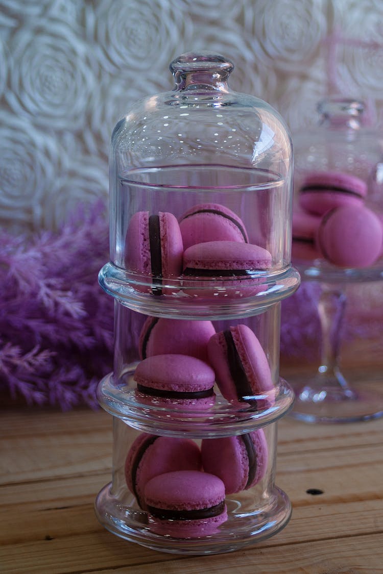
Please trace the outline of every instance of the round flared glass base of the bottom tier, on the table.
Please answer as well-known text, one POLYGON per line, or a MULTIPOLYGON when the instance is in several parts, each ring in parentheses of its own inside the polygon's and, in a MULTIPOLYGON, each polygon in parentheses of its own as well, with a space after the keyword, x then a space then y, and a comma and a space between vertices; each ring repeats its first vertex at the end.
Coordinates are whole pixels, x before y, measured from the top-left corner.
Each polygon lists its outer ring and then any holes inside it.
POLYGON ((96 498, 95 513, 99 522, 125 540, 173 554, 233 552, 274 536, 287 525, 291 516, 289 498, 283 490, 274 487, 269 502, 257 511, 241 512, 237 501, 226 501, 228 519, 216 529, 216 533, 196 538, 173 538, 154 533, 150 529, 148 515, 124 506, 110 489, 111 484, 106 484, 96 498))

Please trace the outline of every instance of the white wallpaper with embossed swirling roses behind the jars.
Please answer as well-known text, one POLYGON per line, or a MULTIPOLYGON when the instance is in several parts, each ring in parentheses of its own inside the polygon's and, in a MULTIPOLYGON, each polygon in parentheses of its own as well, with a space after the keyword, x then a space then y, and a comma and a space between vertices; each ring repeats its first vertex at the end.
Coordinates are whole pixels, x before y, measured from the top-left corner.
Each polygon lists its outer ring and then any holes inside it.
POLYGON ((0 223, 55 229, 106 197, 115 122, 198 49, 293 131, 335 93, 383 123, 382 0, 0 0, 0 223))

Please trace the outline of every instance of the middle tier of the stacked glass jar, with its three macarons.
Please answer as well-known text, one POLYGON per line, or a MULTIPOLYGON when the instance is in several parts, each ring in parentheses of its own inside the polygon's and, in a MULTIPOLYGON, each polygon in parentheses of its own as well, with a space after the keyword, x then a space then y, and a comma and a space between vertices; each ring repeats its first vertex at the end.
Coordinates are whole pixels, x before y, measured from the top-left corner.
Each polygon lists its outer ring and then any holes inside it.
POLYGON ((210 320, 146 316, 117 301, 114 369, 100 382, 98 401, 147 432, 153 424, 177 432, 182 424, 184 432, 220 435, 274 421, 293 400, 279 377, 280 316, 280 302, 241 319, 210 320), (164 380, 163 357, 172 362, 164 380), (204 364, 215 371, 206 386, 194 381, 205 376, 204 364))

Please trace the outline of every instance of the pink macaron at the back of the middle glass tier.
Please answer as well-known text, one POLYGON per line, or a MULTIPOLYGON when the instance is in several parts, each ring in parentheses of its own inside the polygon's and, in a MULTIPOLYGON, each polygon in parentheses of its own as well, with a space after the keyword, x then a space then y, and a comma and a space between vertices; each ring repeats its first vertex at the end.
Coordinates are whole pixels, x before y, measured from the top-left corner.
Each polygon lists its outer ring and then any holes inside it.
POLYGON ((148 317, 140 333, 140 359, 152 355, 191 355, 207 361, 207 343, 215 333, 211 321, 148 317))

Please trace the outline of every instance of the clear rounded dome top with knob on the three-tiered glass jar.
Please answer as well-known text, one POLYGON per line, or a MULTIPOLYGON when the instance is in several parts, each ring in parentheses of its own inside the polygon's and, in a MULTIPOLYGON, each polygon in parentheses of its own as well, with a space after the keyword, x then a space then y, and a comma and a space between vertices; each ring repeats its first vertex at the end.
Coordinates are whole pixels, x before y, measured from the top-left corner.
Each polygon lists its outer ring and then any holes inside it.
POLYGON ((208 52, 173 60, 174 90, 133 104, 115 127, 118 171, 219 164, 288 177, 292 146, 283 118, 263 100, 231 91, 233 68, 208 52))

